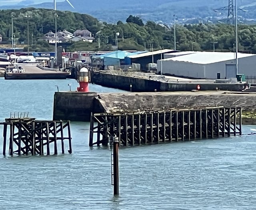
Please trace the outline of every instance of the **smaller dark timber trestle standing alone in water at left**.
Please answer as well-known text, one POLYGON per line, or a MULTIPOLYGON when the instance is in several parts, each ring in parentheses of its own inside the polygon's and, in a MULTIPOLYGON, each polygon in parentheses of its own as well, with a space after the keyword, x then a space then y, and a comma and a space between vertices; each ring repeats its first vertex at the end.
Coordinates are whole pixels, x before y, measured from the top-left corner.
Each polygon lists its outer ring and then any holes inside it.
POLYGON ((70 121, 42 121, 19 116, 19 118, 8 118, 6 122, 0 122, 0 125, 3 125, 3 155, 6 155, 8 140, 8 153, 11 156, 58 154, 58 140, 62 154, 65 153, 64 140, 68 140, 68 152, 72 153, 70 121), (64 137, 64 134, 67 137, 64 137), (51 149, 53 152, 50 151, 51 149))

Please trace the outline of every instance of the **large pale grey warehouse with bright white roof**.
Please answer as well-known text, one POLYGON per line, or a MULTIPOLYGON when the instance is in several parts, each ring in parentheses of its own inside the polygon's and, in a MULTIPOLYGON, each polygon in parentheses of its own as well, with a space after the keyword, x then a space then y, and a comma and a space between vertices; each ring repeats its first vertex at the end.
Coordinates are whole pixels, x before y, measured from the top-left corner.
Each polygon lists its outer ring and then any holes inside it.
MULTIPOLYGON (((172 53, 173 56, 176 53, 172 53)), ((158 72, 190 78, 228 79, 236 77, 233 52, 196 52, 157 61, 158 72)), ((256 75, 256 54, 238 53, 238 74, 256 75)))

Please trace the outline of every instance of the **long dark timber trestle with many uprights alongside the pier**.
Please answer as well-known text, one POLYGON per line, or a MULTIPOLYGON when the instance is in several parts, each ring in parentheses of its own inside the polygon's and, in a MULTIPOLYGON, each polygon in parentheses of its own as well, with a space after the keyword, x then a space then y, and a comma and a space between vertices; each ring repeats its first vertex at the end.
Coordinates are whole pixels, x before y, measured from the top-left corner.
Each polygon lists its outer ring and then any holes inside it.
POLYGON ((155 110, 92 114, 89 146, 159 144, 242 135, 241 108, 155 110))

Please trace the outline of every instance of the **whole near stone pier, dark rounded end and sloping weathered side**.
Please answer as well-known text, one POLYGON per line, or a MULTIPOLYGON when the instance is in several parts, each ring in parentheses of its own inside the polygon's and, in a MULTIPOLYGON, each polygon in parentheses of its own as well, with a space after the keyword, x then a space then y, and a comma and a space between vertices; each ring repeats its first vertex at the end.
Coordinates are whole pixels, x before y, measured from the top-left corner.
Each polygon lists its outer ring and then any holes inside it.
MULTIPOLYGON (((162 110, 163 108, 242 107, 256 112, 256 94, 223 92, 156 92, 156 93, 80 93, 56 92, 53 120, 89 122, 90 114, 162 110)), ((248 124, 253 124, 248 121, 248 124)))

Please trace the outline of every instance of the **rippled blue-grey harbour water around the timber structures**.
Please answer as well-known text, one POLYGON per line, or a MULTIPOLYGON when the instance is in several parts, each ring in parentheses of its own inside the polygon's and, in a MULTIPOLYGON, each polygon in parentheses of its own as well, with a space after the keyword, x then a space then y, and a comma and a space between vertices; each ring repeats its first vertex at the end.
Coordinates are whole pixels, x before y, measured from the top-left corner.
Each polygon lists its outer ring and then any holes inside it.
MULTIPOLYGON (((68 84, 77 87, 75 80, 0 78, 0 120, 14 111, 52 119, 55 85, 66 91, 68 84)), ((113 197, 110 151, 88 147, 88 123, 71 126, 73 154, 13 158, 2 156, 0 128, 0 210, 256 208, 254 135, 121 148, 120 196, 113 197)))

